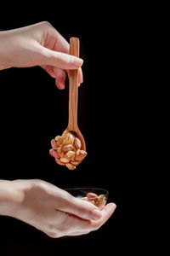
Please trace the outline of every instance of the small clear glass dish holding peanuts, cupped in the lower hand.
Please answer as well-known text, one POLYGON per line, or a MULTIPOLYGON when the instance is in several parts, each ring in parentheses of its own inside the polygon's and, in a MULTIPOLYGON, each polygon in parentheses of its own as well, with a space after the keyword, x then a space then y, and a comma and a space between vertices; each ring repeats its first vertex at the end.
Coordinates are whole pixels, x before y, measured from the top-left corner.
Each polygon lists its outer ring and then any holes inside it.
POLYGON ((96 207, 99 207, 99 210, 105 207, 105 204, 108 200, 109 192, 106 189, 99 189, 99 188, 71 188, 65 189, 71 195, 80 198, 85 201, 89 201, 93 203, 96 207), (98 195, 97 197, 88 198, 88 193, 94 193, 98 195))

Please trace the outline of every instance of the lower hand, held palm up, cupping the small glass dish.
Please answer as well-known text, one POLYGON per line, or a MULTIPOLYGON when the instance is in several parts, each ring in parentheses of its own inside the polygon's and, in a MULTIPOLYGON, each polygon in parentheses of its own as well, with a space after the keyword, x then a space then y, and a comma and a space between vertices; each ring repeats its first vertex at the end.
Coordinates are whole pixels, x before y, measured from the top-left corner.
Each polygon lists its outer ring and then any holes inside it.
POLYGON ((116 209, 110 203, 99 211, 92 203, 42 180, 15 180, 9 183, 9 188, 14 190, 13 200, 3 207, 3 215, 18 218, 51 237, 78 236, 98 230, 116 209))

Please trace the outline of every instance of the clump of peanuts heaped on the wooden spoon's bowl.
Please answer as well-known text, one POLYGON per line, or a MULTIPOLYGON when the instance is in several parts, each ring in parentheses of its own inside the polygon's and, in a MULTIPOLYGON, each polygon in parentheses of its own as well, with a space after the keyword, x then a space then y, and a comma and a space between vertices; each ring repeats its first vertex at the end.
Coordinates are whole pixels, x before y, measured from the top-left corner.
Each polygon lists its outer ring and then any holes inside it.
POLYGON ((49 154, 54 156, 58 165, 66 166, 69 170, 74 170, 87 155, 87 152, 81 149, 79 138, 67 130, 52 139, 51 146, 49 154))

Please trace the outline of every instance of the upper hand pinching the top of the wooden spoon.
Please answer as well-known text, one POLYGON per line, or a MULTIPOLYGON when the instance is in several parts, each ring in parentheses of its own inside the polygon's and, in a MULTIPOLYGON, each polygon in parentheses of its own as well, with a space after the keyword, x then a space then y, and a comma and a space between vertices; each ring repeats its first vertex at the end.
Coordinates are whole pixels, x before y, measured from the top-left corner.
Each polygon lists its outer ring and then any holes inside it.
POLYGON ((82 83, 82 59, 69 55, 69 44, 47 21, 0 32, 0 70, 41 66, 59 89, 65 88, 65 70, 78 68, 82 83))

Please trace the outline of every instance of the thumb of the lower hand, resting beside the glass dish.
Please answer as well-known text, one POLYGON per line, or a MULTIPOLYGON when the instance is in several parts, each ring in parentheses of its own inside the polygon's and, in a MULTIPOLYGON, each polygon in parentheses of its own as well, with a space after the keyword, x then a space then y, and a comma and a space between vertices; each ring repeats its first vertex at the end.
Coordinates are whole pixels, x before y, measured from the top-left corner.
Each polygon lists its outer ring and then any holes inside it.
POLYGON ((82 201, 74 196, 70 197, 70 201, 67 201, 65 207, 62 207, 64 212, 71 213, 76 215, 79 218, 84 219, 94 219, 97 220, 102 217, 101 212, 99 211, 98 207, 95 207, 92 203, 88 201, 82 201))

